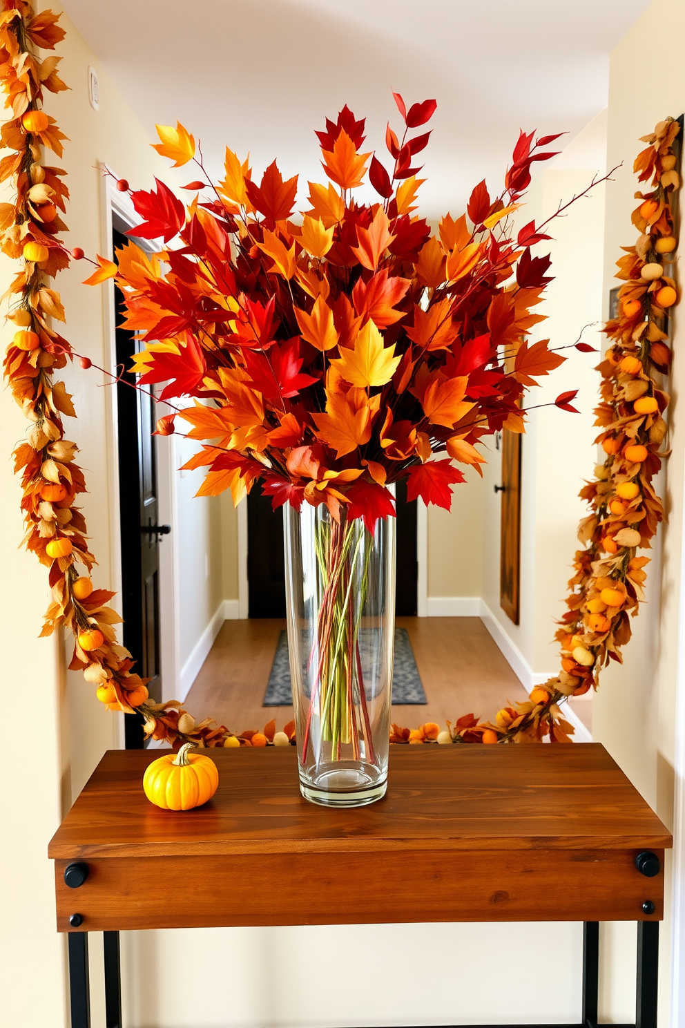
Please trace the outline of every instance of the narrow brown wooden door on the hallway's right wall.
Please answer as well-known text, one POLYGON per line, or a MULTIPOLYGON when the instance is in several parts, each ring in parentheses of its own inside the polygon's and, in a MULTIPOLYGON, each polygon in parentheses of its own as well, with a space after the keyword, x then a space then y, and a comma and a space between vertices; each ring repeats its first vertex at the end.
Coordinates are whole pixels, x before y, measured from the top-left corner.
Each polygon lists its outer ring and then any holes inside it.
POLYGON ((499 602, 519 624, 521 594, 521 435, 502 432, 502 499, 499 549, 499 602))

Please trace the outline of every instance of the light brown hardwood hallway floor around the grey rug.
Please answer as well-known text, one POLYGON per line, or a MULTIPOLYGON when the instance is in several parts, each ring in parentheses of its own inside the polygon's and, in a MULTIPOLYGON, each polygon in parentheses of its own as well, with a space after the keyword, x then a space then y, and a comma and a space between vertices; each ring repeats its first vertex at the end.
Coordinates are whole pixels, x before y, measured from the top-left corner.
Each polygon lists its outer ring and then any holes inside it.
MULTIPOLYGON (((407 628, 428 703, 396 705, 392 721, 441 727, 472 712, 493 718, 507 700, 526 693, 480 618, 397 618, 407 628)), ((284 620, 225 621, 186 697, 196 721, 212 717, 232 731, 261 729, 272 718, 280 729, 293 708, 262 700, 284 620)))

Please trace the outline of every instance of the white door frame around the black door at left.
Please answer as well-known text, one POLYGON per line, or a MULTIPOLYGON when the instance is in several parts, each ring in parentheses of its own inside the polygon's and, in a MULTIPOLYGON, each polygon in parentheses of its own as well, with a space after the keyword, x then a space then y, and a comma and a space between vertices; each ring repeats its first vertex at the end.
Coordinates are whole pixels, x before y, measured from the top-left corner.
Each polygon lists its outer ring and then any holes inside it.
MULTIPOLYGON (((119 178, 106 163, 101 162, 101 253, 114 259, 112 229, 132 228, 138 220, 128 193, 119 192, 115 182, 119 178)), ((154 242, 152 247, 154 247, 154 242)), ((116 320, 114 306, 114 286, 108 282, 103 289, 103 319, 105 336, 105 368, 116 376, 116 320)), ((112 589, 116 595, 112 605, 121 615, 121 523, 119 506, 119 424, 116 389, 112 384, 105 389, 105 410, 107 416, 107 479, 109 482, 110 510, 110 566, 112 589)), ((176 475, 178 467, 177 446, 174 436, 158 437, 157 440, 157 485, 159 523, 170 523, 172 533, 159 547, 159 653, 162 676, 162 700, 173 699, 178 693, 181 677, 181 654, 179 649, 180 626, 178 624, 178 543, 174 526, 178 524, 178 503, 176 475), (163 583, 163 585, 162 585, 163 583), (169 588, 170 586, 170 588, 169 588)), ((123 714, 117 718, 117 745, 124 745, 123 714)))

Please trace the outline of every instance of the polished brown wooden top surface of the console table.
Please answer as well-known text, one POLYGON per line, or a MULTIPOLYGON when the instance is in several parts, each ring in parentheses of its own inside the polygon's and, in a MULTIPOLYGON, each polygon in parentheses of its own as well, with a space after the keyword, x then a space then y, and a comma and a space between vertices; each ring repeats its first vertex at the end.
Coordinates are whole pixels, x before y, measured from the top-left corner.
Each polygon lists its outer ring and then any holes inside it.
POLYGON ((295 747, 210 749, 219 788, 160 810, 142 788, 164 750, 109 750, 49 845, 86 859, 401 850, 663 849, 672 837, 599 743, 390 746, 368 807, 307 803, 295 747))

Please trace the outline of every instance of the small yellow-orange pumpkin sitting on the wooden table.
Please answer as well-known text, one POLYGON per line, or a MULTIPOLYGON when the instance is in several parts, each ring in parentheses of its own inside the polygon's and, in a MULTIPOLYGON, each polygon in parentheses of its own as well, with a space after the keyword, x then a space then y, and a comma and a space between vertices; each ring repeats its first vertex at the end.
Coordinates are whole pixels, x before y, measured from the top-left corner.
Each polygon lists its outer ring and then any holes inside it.
POLYGON ((164 754, 148 764, 143 791, 150 803, 163 810, 191 810, 211 800, 219 785, 217 765, 202 754, 189 754, 186 742, 178 754, 164 754))

